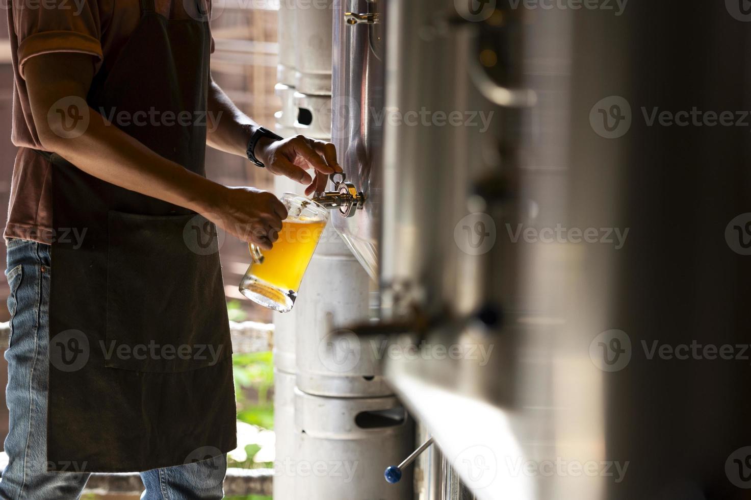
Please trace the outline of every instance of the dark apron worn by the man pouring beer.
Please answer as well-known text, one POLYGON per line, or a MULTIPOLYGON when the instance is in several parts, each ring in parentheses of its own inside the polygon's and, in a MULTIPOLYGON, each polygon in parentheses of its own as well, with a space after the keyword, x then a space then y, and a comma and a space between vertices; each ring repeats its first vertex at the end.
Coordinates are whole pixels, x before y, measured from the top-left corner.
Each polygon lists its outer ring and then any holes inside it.
MULTIPOLYGON (((153 0, 140 7, 140 23, 118 59, 92 82, 89 106, 104 117, 137 117, 139 123, 114 121, 159 155, 205 175, 208 23, 167 20, 153 0), (155 118, 143 118, 152 110, 155 118), (191 124, 174 123, 186 111, 183 122, 191 124)), ((53 163, 55 230, 48 469, 145 471, 233 450, 231 341, 216 227, 43 154, 53 163), (71 229, 85 231, 83 245, 71 229)))

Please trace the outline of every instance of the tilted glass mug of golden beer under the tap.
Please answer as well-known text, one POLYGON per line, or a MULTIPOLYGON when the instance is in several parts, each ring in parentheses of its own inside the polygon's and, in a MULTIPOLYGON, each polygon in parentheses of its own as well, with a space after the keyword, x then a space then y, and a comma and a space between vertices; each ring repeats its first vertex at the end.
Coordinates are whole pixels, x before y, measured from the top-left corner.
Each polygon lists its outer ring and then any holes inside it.
POLYGON ((271 250, 250 244, 252 263, 240 292, 253 302, 286 313, 292 310, 297 290, 326 227, 329 211, 304 196, 285 192, 280 198, 287 208, 279 239, 271 250))

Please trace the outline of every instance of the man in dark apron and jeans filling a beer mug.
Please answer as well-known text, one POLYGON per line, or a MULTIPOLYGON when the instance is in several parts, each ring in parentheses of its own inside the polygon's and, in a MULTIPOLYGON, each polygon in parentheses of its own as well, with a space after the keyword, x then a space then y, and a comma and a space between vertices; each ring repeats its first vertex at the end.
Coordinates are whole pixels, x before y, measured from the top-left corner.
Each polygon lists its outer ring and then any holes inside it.
POLYGON ((8 9, 20 150, 2 498, 78 498, 92 471, 140 471, 142 498, 222 498, 236 444, 216 226, 269 249, 287 214, 207 180, 206 144, 307 194, 341 168, 332 144, 280 140, 213 82, 203 2, 8 9))

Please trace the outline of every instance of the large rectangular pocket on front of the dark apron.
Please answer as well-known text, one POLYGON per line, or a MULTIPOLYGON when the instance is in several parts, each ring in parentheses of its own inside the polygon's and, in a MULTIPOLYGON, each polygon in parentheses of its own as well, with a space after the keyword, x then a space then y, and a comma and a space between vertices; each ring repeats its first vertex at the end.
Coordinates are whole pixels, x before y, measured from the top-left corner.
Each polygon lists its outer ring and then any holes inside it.
POLYGON ((104 365, 176 372, 231 355, 216 226, 110 211, 104 365))

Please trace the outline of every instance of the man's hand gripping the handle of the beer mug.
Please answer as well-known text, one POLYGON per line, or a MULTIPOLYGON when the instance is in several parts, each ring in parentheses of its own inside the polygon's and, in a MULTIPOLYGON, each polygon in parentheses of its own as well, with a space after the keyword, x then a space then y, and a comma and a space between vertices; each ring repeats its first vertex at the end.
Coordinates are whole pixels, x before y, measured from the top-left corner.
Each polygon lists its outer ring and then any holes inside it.
POLYGON ((270 192, 252 187, 221 186, 206 208, 206 217, 243 241, 270 250, 279 238, 287 209, 270 192))

